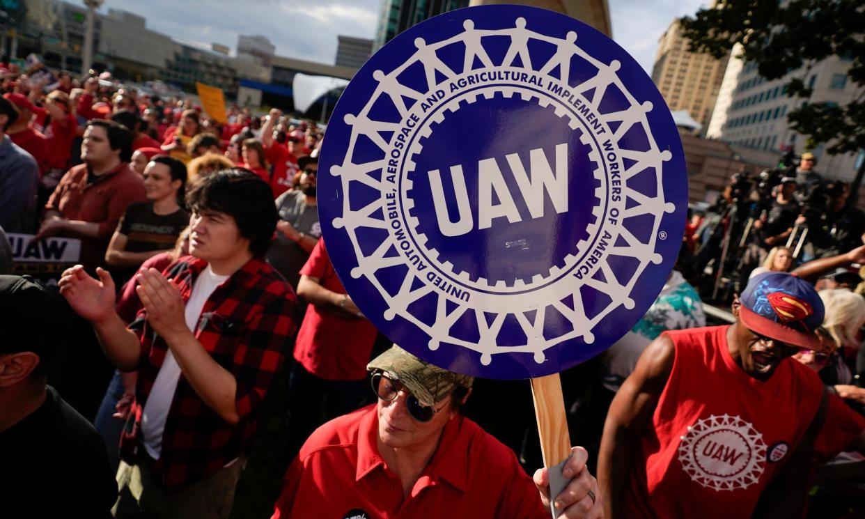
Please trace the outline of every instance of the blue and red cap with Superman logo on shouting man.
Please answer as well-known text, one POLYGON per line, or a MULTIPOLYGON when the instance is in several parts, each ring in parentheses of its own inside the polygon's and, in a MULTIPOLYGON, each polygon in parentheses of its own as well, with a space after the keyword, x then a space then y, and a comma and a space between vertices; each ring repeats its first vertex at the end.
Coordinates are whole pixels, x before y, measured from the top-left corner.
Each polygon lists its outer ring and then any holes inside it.
POLYGON ((783 343, 821 349, 814 331, 823 324, 823 301, 810 283, 786 272, 754 276, 739 298, 748 330, 783 343))

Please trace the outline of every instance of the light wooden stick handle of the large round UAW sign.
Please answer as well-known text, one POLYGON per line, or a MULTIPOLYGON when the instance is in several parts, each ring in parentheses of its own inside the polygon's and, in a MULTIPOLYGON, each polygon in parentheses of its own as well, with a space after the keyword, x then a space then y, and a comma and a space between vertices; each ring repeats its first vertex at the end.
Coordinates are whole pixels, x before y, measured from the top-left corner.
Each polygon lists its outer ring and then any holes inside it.
MULTIPOLYGON (((538 422, 538 435, 541 437, 541 456, 550 477, 549 502, 564 490, 567 481, 556 471, 557 465, 571 455, 571 437, 567 432, 565 399, 561 394, 561 378, 558 373, 531 379, 532 399, 535 400, 535 418, 538 422)), ((554 508, 554 507, 551 507, 554 508)), ((561 510, 552 510, 553 517, 561 510)))

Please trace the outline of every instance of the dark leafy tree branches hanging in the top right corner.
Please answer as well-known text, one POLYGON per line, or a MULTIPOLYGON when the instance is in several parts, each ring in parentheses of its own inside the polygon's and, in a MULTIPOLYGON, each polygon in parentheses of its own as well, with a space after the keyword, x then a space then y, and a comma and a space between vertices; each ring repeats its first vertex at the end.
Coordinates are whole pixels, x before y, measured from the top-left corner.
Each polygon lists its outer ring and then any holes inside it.
POLYGON ((740 43, 735 57, 754 63, 767 80, 801 70, 788 82, 787 95, 805 101, 811 89, 803 79, 811 65, 833 55, 850 60, 847 74, 857 87, 855 99, 840 106, 806 102, 787 118, 810 147, 830 143, 830 154, 865 149, 865 2, 718 0, 714 8, 698 10, 681 23, 692 52, 721 58, 740 43))

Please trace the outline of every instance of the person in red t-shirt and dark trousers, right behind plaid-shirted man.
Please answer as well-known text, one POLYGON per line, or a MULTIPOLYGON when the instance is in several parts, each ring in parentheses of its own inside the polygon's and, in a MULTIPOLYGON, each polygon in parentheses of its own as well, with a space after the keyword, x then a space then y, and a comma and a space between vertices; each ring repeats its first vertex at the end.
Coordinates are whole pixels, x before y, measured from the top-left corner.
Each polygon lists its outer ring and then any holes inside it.
POLYGON ((308 396, 289 402, 289 452, 297 452, 323 423, 318 419, 323 401, 325 421, 361 407, 366 366, 378 335, 336 277, 324 240, 316 242, 300 270, 298 297, 310 306, 298 330, 288 384, 291 394, 308 396))

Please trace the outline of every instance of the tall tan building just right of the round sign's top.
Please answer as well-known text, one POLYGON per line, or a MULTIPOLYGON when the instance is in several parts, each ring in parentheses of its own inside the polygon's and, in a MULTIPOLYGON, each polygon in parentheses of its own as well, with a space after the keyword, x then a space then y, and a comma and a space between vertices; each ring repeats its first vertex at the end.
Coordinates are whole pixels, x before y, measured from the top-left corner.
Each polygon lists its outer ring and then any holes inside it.
POLYGON ((651 79, 670 110, 687 110, 705 132, 712 119, 727 61, 727 58, 715 60, 708 54, 689 52, 688 40, 682 37, 676 20, 658 41, 651 79))

